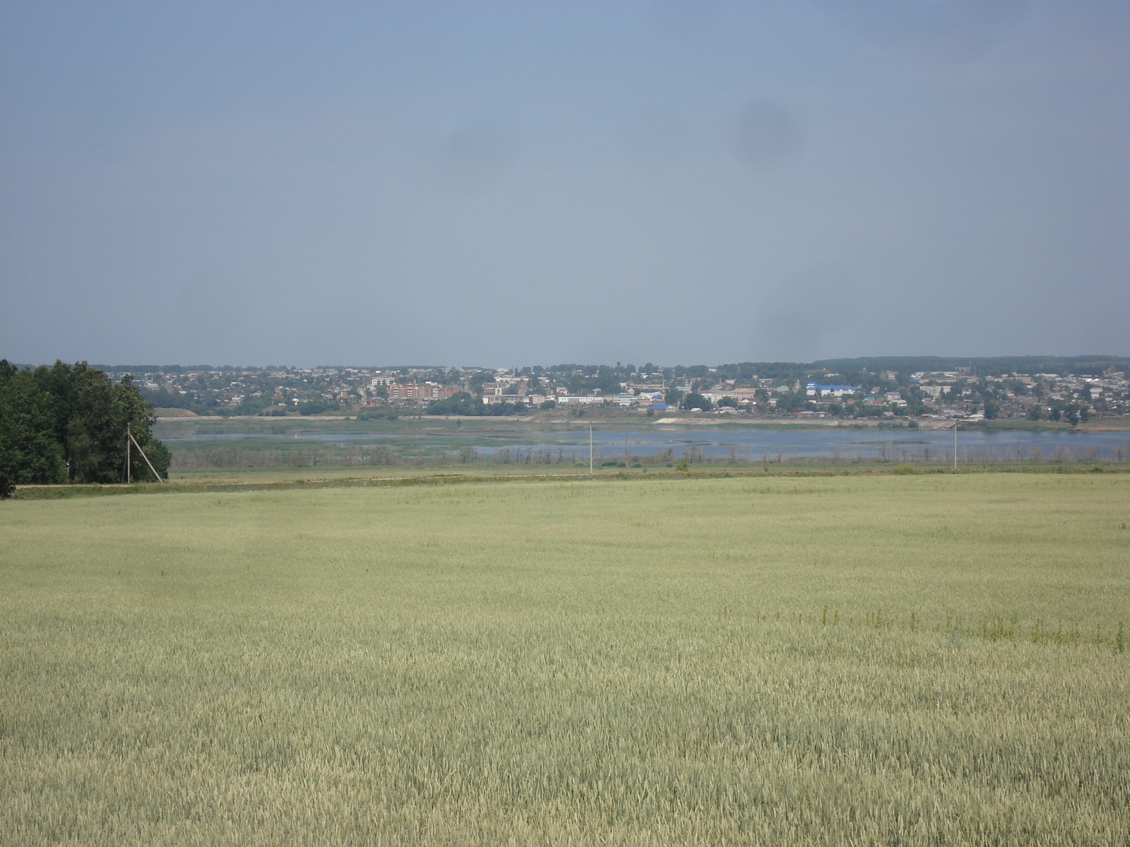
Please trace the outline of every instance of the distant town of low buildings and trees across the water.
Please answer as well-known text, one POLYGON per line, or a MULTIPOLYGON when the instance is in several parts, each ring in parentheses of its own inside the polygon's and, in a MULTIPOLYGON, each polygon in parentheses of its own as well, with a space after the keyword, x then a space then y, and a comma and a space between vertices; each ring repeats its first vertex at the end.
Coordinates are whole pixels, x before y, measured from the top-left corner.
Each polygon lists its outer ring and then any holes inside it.
MULTIPOLYGON (((1086 358, 1086 357, 1080 357, 1086 358)), ((1125 359, 967 360, 868 367, 877 360, 659 367, 123 367, 162 417, 400 414, 756 416, 946 425, 954 420, 1086 422, 1130 414, 1125 359), (986 364, 996 363, 996 365, 986 364), (996 373, 993 373, 996 372, 996 373)), ((883 361, 883 360, 878 360, 883 361)), ((829 421, 831 422, 831 421, 829 421)))

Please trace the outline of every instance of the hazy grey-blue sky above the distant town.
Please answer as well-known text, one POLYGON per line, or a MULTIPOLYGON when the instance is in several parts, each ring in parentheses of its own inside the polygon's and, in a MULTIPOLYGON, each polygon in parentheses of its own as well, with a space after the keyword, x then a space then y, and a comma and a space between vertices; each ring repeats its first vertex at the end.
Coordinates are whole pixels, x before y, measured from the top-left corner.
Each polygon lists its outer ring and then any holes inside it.
POLYGON ((0 356, 1130 353, 1130 3, 0 6, 0 356))

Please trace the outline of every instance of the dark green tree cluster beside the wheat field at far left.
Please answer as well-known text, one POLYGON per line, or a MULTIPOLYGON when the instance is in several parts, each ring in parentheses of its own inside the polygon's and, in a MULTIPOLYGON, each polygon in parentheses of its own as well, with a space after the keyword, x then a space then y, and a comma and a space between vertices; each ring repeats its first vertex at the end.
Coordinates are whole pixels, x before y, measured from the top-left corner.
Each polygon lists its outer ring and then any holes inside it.
MULTIPOLYGON (((122 481, 127 431, 167 478, 171 456, 153 437, 155 420, 129 376, 115 385, 85 361, 20 369, 0 359, 0 496, 20 484, 122 481)), ((132 453, 132 475, 151 479, 132 453)))

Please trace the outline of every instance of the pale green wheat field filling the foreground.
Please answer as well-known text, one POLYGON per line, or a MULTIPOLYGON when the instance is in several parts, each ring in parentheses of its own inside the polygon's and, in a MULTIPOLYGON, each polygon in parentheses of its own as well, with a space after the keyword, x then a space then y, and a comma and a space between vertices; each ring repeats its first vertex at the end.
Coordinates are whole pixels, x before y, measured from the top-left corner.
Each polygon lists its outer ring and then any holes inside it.
POLYGON ((1130 841, 1130 474, 0 504, 3 845, 1130 841))

